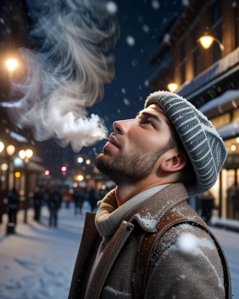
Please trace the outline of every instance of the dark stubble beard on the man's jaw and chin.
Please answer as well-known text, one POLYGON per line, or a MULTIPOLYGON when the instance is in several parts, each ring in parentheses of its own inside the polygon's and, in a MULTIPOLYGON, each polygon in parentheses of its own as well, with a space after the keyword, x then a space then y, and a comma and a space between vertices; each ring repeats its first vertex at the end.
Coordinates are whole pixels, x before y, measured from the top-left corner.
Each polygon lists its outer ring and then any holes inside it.
POLYGON ((162 150, 151 154, 132 151, 120 156, 107 155, 106 152, 95 158, 95 166, 116 185, 131 185, 147 178, 161 155, 162 150))

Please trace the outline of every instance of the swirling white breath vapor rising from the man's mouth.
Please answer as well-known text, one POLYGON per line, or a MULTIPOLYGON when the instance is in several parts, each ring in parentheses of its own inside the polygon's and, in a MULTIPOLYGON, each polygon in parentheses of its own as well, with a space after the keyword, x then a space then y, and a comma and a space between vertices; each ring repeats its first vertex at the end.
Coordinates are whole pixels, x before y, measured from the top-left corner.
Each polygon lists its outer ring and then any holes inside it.
POLYGON ((31 0, 38 22, 32 36, 43 39, 39 52, 21 48, 27 76, 13 83, 15 102, 4 102, 12 121, 32 128, 38 141, 56 138, 78 152, 106 139, 98 115, 87 107, 103 97, 103 84, 114 78, 114 47, 120 30, 102 0, 31 0), (20 95, 20 98, 19 98, 20 95))

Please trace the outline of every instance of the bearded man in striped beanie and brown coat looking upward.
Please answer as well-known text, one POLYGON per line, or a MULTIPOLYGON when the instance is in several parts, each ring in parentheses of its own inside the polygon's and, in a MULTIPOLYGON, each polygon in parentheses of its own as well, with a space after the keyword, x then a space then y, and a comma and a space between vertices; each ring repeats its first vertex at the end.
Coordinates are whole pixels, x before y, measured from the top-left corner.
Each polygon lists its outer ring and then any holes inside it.
POLYGON ((158 91, 135 118, 114 122, 113 129, 96 166, 116 188, 96 216, 86 215, 69 299, 224 299, 226 261, 187 203, 215 184, 225 161, 215 128, 187 100, 158 91), (139 265, 147 262, 139 263, 141 246, 178 215, 201 226, 184 223, 162 234, 139 295, 139 265))

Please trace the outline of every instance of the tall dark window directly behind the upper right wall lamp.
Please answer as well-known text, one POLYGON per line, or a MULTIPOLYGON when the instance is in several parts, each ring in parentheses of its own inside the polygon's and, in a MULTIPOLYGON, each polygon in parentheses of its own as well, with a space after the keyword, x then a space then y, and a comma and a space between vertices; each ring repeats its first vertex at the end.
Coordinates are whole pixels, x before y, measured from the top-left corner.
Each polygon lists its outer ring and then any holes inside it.
MULTIPOLYGON (((211 31, 215 38, 222 41, 222 0, 217 0, 211 7, 211 31)), ((221 58, 221 50, 219 45, 214 42, 212 44, 212 61, 215 63, 221 58)))

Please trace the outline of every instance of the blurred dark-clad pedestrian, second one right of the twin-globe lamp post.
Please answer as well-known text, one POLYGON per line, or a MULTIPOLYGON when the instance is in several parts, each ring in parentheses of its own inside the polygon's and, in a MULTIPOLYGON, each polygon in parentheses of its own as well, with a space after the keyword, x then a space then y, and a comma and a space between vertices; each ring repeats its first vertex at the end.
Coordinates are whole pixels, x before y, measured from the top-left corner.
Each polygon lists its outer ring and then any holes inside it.
POLYGON ((49 209, 49 226, 51 227, 52 221, 54 222, 54 227, 57 227, 58 220, 58 210, 62 205, 62 195, 57 190, 56 187, 52 186, 48 193, 47 206, 49 209))

